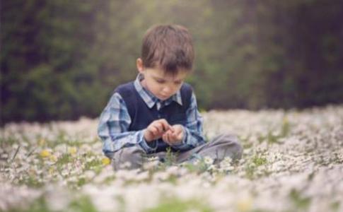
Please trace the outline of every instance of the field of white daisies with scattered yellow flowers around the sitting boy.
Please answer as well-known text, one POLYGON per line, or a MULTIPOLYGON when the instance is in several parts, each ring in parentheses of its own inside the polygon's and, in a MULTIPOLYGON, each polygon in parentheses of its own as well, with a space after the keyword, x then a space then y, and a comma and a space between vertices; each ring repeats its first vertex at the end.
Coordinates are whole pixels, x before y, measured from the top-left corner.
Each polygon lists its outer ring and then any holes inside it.
POLYGON ((239 136, 241 160, 114 172, 96 119, 6 124, 0 211, 343 211, 343 105, 203 117, 207 138, 239 136))

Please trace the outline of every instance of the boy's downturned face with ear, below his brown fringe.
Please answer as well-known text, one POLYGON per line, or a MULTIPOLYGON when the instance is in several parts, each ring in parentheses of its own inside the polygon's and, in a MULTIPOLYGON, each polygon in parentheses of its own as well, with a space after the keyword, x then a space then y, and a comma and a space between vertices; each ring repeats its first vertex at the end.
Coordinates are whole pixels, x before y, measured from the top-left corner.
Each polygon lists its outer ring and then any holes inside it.
POLYGON ((175 75, 165 73, 158 68, 144 68, 141 59, 137 59, 137 69, 144 75, 141 84, 159 100, 167 100, 180 90, 188 71, 179 70, 175 75))

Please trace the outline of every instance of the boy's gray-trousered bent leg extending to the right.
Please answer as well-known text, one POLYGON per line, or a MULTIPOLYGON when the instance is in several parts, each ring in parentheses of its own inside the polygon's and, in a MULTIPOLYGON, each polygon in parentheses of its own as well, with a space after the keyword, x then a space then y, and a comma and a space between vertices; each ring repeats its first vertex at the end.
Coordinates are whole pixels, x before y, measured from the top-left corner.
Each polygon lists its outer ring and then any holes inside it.
POLYGON ((226 157, 240 159, 242 152, 243 148, 240 146, 237 136, 221 134, 202 146, 197 146, 190 151, 180 153, 178 155, 178 163, 190 160, 194 155, 199 155, 200 157, 207 156, 213 158, 214 163, 218 163, 226 157))

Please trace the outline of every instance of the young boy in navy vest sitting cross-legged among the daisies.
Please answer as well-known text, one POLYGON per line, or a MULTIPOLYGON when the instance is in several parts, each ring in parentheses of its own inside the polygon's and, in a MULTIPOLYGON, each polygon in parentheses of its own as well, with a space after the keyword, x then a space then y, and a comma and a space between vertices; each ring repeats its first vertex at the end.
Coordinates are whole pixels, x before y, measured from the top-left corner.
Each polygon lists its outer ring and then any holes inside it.
POLYGON ((146 32, 136 60, 136 80, 116 88, 100 115, 98 135, 115 170, 127 162, 131 168, 141 167, 147 155, 163 160, 168 148, 178 163, 194 155, 215 162, 226 156, 240 158, 236 136, 204 141, 197 100, 184 83, 193 61, 192 37, 186 28, 156 25, 146 32))

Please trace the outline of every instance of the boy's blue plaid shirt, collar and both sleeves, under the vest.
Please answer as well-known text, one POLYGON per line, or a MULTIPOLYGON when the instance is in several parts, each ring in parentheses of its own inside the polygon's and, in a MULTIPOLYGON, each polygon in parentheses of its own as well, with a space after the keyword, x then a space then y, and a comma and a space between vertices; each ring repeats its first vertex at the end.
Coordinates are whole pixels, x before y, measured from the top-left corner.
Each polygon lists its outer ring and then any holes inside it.
MULTIPOLYGON (((168 100, 158 100, 149 90, 141 86, 143 76, 139 74, 134 81, 134 88, 149 108, 156 104, 158 110, 175 101, 182 105, 180 90, 168 100)), ((194 93, 190 101, 190 107, 186 111, 187 122, 184 126, 184 137, 181 144, 173 146, 180 151, 187 151, 204 143, 202 134, 202 116, 197 110, 197 100, 194 93)), ((139 144, 146 153, 154 153, 156 148, 149 146, 144 139, 144 130, 128 131, 131 118, 124 100, 119 93, 114 93, 107 106, 100 115, 98 136, 103 141, 103 152, 107 155, 121 148, 139 144)))

